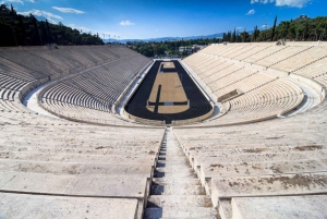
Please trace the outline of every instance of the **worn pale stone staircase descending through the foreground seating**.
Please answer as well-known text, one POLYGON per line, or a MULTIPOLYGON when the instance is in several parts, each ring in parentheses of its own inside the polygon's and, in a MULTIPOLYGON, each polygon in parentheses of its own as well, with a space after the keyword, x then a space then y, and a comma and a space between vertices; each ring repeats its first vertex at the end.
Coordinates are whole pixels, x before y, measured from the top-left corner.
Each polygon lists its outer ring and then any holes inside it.
POLYGON ((219 218, 171 131, 166 130, 144 219, 219 218))

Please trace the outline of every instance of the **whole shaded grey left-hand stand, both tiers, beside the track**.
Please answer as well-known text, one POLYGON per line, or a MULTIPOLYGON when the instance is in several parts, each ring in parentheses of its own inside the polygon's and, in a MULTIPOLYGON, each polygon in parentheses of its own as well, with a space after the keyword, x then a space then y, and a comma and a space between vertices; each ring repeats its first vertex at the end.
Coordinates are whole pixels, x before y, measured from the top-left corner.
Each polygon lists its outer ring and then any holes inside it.
POLYGON ((125 47, 2 48, 0 98, 20 102, 35 86, 68 77, 50 83, 41 93, 41 106, 46 110, 78 121, 98 123, 102 119, 105 124, 124 124, 110 114, 111 108, 150 62, 125 47))

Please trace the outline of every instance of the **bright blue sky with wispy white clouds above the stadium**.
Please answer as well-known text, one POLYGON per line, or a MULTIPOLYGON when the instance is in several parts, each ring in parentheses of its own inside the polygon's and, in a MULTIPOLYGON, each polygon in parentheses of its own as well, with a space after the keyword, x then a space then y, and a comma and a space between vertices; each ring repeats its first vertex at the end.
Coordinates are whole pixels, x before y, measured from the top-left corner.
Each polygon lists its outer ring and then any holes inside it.
POLYGON ((271 26, 275 15, 327 15, 327 0, 0 0, 21 14, 99 33, 100 37, 146 39, 198 36, 271 26))

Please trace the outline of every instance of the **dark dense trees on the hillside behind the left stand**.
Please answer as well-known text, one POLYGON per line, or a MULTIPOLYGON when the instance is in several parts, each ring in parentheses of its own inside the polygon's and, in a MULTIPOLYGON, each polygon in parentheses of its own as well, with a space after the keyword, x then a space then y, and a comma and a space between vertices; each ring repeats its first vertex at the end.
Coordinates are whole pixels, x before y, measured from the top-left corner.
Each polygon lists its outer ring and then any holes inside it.
POLYGON ((37 21, 33 14, 17 14, 11 5, 0 5, 0 46, 102 45, 101 38, 90 33, 73 29, 62 23, 37 21))

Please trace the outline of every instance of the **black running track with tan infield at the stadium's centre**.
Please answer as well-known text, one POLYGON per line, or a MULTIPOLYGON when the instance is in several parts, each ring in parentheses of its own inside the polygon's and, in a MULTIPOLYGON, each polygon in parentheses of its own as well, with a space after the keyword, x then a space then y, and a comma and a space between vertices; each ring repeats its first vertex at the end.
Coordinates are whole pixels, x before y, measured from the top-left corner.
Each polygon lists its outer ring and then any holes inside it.
POLYGON ((208 118, 214 108, 180 62, 173 60, 154 63, 124 110, 138 122, 184 124, 208 118))

